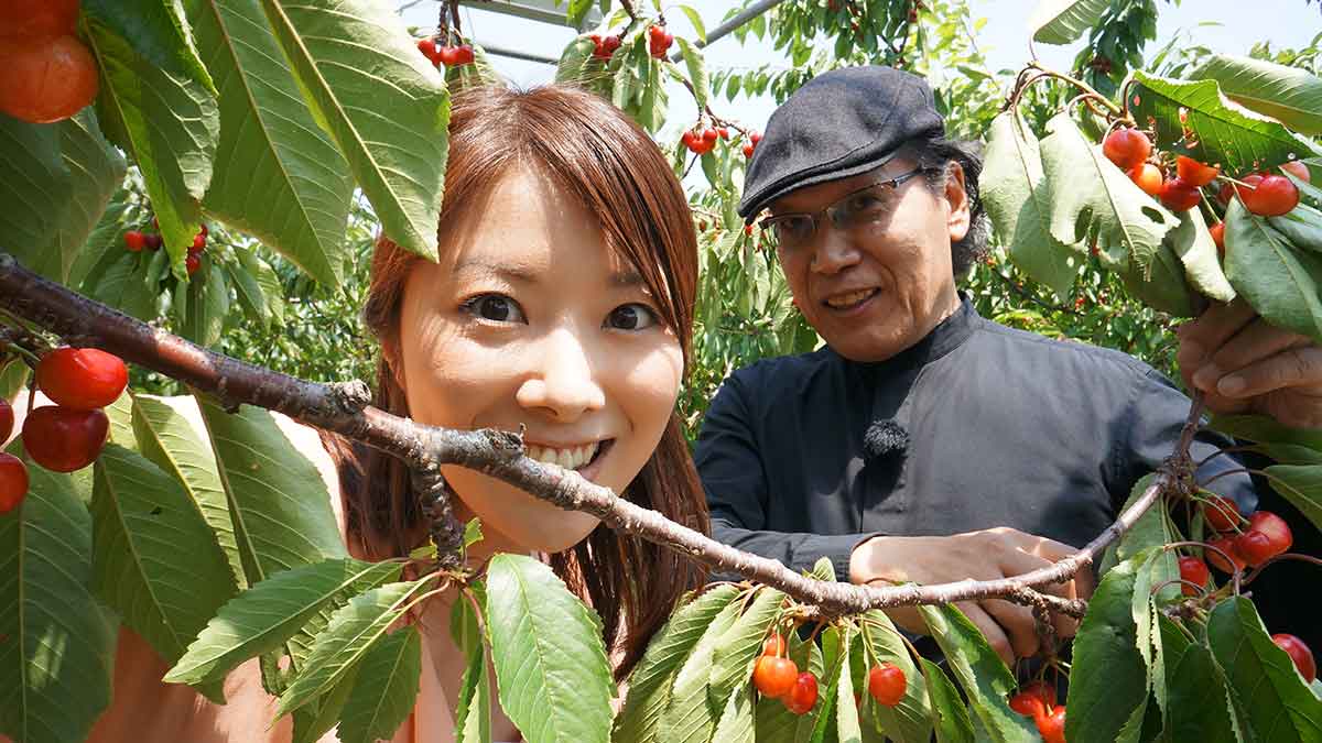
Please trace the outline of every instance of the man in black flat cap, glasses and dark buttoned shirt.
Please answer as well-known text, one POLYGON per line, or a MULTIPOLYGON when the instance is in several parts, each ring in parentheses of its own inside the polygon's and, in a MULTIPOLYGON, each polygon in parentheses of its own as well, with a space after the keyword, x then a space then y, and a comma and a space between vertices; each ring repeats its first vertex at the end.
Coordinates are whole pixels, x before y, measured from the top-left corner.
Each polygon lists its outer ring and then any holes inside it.
MULTIPOLYGON (((718 539, 795 570, 825 555, 854 583, 1010 576, 1095 538, 1171 453, 1190 403, 1158 373, 960 296, 985 241, 980 167, 944 139, 927 83, 888 67, 822 74, 772 115, 739 213, 769 209, 764 234, 826 345, 742 369, 713 401, 697 464, 718 539)), ((1214 407, 1322 422, 1314 345, 1239 307, 1181 336, 1214 407)), ((1223 444, 1200 434, 1192 455, 1223 444)), ((1214 457, 1199 476, 1239 467, 1214 457)), ((1245 475, 1215 488, 1256 505, 1245 475)), ((1048 590, 1087 596, 1092 575, 1048 590)), ((961 608, 1003 658, 1036 653, 1027 608, 961 608)), ((916 611, 891 616, 924 631, 916 611)))

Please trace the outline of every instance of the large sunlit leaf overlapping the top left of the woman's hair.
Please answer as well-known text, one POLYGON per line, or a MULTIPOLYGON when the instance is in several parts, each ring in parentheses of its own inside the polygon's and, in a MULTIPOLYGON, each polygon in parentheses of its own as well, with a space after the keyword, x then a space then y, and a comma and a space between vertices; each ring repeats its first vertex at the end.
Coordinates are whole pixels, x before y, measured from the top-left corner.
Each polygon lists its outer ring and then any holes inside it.
POLYGON ((436 260, 449 123, 440 73, 382 3, 262 0, 262 7, 386 235, 436 260))

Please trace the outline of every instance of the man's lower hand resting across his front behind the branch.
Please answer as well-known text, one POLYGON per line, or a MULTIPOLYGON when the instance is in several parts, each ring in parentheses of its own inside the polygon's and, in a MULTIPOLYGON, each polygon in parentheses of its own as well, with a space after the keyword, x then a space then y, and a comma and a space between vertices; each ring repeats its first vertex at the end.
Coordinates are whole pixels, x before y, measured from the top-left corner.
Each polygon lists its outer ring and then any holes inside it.
MULTIPOLYGON (((1050 567, 1076 553, 1044 537, 1015 529, 998 528, 954 534, 953 537, 874 537, 859 545, 850 558, 853 583, 888 586, 914 582, 924 586, 954 580, 995 580, 1050 567)), ((1073 580, 1043 586, 1046 594, 1062 599, 1087 599, 1092 595, 1092 568, 1084 567, 1073 580)), ((1005 599, 982 599, 956 604, 992 644, 1006 665, 1014 658, 1035 656, 1040 637, 1032 609, 1005 599)), ((886 609, 902 628, 925 635, 927 625, 914 607, 886 609)), ((1052 615, 1052 624, 1062 637, 1073 637, 1077 620, 1052 615)))

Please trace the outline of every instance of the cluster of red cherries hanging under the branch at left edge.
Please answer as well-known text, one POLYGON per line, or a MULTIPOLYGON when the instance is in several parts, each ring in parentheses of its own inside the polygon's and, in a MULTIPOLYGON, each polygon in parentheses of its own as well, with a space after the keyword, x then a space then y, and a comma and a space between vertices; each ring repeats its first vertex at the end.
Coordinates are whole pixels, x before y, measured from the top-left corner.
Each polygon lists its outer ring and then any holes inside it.
MULTIPOLYGON (((103 407, 128 386, 128 369, 118 356, 94 348, 58 348, 37 364, 37 387, 56 405, 34 409, 22 422, 28 456, 52 472, 73 472, 91 464, 106 446, 110 419, 103 407)), ((13 409, 0 398, 0 442, 13 431, 13 409)), ((8 513, 28 493, 28 468, 19 457, 0 453, 0 513, 8 513)))

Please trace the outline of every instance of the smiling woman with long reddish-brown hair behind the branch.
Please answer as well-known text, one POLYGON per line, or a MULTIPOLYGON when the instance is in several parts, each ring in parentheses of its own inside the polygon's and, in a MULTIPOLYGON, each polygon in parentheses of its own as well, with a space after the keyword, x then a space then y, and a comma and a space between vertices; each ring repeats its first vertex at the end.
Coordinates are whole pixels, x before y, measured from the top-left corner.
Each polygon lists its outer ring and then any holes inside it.
MULTIPOLYGON (((382 344, 377 405, 455 428, 526 427, 527 453, 576 469, 672 520, 706 529, 706 504, 674 403, 690 346, 697 246, 687 202, 648 135, 584 91, 476 89, 453 100, 440 260, 382 241, 365 316, 382 344)), ((21 409, 21 406, 17 406, 21 409)), ((190 406, 185 406, 190 407, 190 406)), ((340 497, 350 553, 406 555, 427 538, 394 459, 287 422, 340 497)), ((678 555, 619 535, 457 467, 456 514, 481 518, 477 559, 543 553, 600 613, 616 677, 702 580, 678 555)), ((453 592, 427 603, 419 701, 397 742, 452 740, 464 658, 453 592)), ((290 740, 255 661, 215 706, 122 631, 111 709, 91 740, 290 740)), ((497 713, 496 740, 518 740, 497 713)), ((328 735, 325 740, 333 740, 328 735)))

